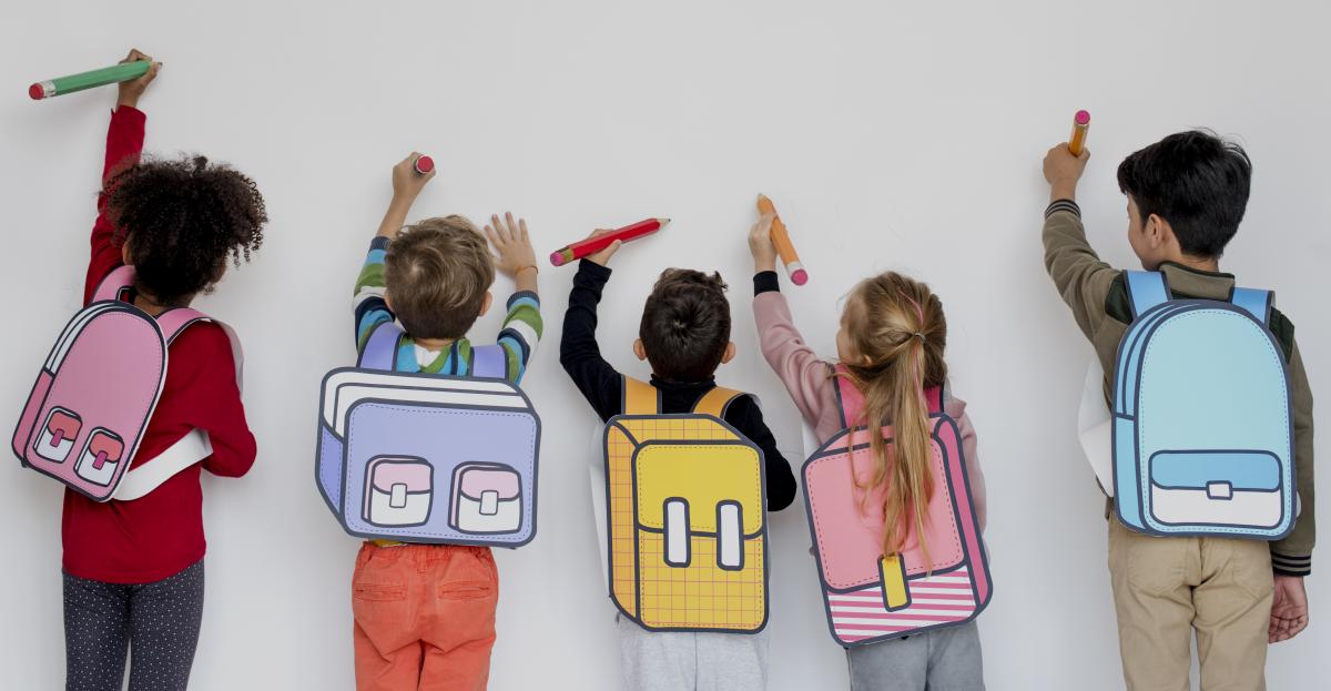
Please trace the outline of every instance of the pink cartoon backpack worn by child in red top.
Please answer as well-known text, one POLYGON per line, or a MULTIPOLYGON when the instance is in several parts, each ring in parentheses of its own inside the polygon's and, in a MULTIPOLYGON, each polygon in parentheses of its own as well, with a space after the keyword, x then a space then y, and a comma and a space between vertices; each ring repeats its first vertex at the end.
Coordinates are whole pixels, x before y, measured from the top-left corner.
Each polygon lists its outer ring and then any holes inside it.
POLYGON ((28 394, 13 433, 25 467, 97 502, 137 499, 213 453, 208 433, 192 430, 133 469, 134 453, 166 378, 168 346, 189 325, 212 321, 226 332, 240 386, 240 341, 225 324, 174 308, 153 318, 125 301, 134 269, 106 274, 92 302, 65 325, 28 394))

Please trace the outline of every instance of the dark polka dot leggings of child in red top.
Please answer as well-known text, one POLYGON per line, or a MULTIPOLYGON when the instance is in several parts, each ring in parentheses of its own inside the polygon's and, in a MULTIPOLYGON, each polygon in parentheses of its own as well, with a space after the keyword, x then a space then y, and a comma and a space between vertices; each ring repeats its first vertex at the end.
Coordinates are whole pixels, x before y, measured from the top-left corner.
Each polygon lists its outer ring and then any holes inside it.
POLYGON ((126 650, 129 691, 186 687, 204 618, 202 559, 154 583, 64 580, 67 691, 120 691, 126 650))

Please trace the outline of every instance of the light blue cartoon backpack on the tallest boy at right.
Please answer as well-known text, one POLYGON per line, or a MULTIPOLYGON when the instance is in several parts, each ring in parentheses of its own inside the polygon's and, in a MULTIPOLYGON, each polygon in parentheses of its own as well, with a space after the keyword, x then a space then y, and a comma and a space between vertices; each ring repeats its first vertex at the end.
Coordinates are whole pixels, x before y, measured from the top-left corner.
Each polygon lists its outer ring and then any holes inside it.
POLYGON ((1118 517, 1151 535, 1279 539, 1294 527, 1288 363, 1272 293, 1174 300, 1125 272, 1133 324, 1114 374, 1118 517))

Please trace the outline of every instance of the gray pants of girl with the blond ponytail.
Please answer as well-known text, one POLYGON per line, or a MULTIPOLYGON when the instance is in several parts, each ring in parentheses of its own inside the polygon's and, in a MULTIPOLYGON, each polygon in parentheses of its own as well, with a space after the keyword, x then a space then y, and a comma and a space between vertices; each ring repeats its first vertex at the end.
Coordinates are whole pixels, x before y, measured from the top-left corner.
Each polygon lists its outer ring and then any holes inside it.
POLYGON ((851 691, 984 691, 976 622, 848 648, 851 691))

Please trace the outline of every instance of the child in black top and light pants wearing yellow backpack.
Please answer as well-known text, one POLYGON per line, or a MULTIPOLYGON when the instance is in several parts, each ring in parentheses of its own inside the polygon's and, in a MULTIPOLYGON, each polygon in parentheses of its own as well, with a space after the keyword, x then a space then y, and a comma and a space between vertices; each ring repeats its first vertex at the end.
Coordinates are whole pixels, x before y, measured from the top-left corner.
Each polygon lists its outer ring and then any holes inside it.
MULTIPOLYGON (((595 233, 594 233, 595 234, 595 233)), ((600 355, 596 304, 610 280, 606 266, 620 242, 578 266, 564 314, 559 361, 603 421, 623 411, 624 375, 600 355)), ((688 413, 716 386, 713 373, 735 357, 731 309, 719 274, 667 269, 643 309, 634 353, 652 366, 660 411, 688 413)), ((725 409, 725 422, 763 449, 767 509, 795 501, 795 475, 776 449, 763 413, 749 397, 725 409)), ((648 632, 620 616, 620 663, 631 690, 761 690, 767 686, 768 634, 648 632)))

